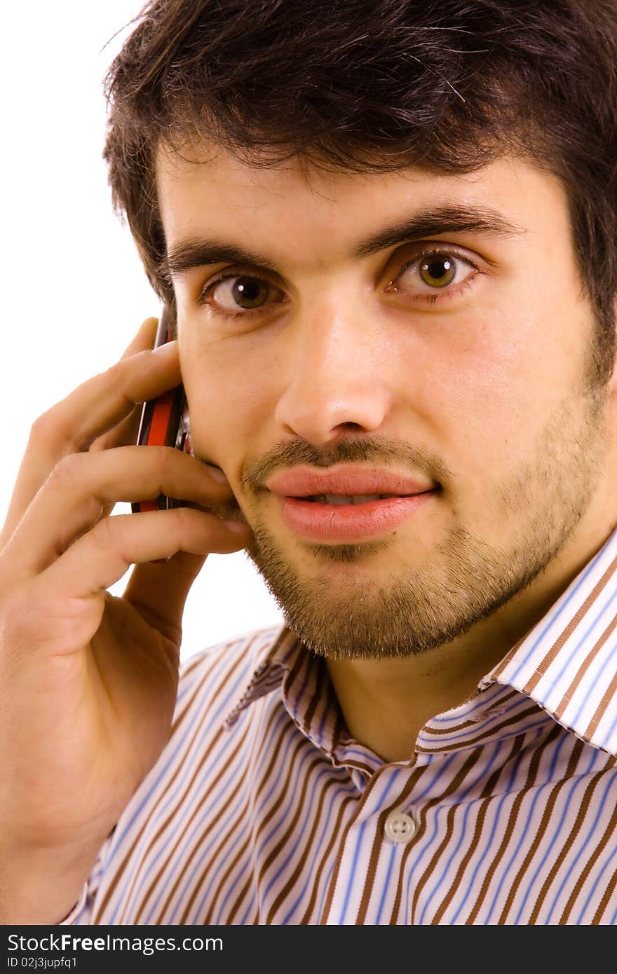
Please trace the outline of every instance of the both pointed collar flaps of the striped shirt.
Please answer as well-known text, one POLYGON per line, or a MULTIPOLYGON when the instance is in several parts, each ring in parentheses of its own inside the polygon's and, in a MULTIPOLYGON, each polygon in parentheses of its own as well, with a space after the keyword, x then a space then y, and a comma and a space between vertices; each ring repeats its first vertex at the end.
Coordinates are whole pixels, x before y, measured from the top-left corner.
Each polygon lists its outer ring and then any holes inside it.
MULTIPOLYGON (((255 662, 225 725, 259 697, 279 690, 299 730, 331 755, 344 728, 324 659, 284 625, 255 662)), ((512 687, 568 731, 617 754, 617 530, 547 614, 482 678, 479 691, 494 684, 512 687)))

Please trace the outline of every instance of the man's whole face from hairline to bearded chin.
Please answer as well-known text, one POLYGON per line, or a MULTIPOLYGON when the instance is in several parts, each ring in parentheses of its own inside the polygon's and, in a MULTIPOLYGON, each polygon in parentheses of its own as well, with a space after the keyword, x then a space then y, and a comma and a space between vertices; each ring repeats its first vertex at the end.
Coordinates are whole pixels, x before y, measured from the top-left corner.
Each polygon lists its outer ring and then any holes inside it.
POLYGON ((161 151, 158 186, 193 447, 225 471, 307 645, 434 649, 602 517, 607 535, 614 396, 587 378, 596 325, 557 179, 508 159, 464 176, 251 169, 207 146, 161 151), (302 484, 276 475, 298 470, 431 493, 289 501, 302 484))

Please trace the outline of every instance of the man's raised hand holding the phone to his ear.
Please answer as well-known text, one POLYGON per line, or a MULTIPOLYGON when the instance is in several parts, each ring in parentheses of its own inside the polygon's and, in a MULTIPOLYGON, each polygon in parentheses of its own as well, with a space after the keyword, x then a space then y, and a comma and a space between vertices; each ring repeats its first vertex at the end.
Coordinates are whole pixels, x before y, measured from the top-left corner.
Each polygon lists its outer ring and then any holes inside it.
POLYGON ((190 586, 209 552, 250 538, 248 526, 234 533, 204 509, 229 501, 231 489, 200 460, 128 445, 135 404, 180 382, 177 343, 151 351, 155 330, 147 319, 119 362, 36 421, 0 533, 0 887, 13 890, 9 914, 19 890, 28 901, 20 874, 34 882, 60 863, 57 892, 70 909, 169 738, 190 586), (110 516, 119 501, 161 493, 196 506, 110 516), (124 595, 111 596, 132 564, 124 595))

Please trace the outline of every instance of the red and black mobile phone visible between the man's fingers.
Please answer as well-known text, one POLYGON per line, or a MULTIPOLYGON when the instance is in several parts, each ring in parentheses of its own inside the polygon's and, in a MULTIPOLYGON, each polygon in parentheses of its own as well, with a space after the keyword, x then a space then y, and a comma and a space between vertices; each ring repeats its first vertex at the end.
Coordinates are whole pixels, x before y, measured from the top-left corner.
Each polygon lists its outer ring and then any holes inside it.
MULTIPOLYGON (((164 305, 159 318, 154 348, 165 345, 173 337, 170 313, 167 305, 164 305)), ((163 393, 157 399, 143 403, 137 446, 174 446, 184 453, 191 453, 190 423, 183 386, 176 386, 169 393, 163 393)), ((136 514, 144 510, 167 510, 170 507, 181 507, 183 504, 184 502, 173 497, 159 494, 158 498, 152 501, 134 502, 131 509, 136 514)))

